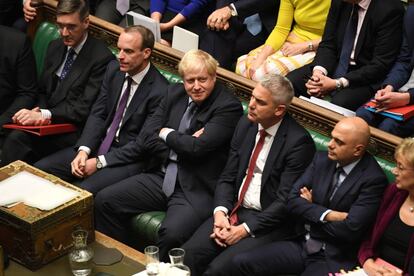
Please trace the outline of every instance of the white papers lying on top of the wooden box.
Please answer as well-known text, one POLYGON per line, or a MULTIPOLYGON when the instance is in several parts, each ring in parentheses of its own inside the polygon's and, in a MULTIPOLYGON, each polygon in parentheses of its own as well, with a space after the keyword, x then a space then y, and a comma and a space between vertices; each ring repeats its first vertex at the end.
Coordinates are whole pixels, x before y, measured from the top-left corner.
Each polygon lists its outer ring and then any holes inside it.
POLYGON ((54 184, 26 171, 0 181, 1 206, 23 202, 28 206, 49 211, 78 195, 75 190, 54 184))

